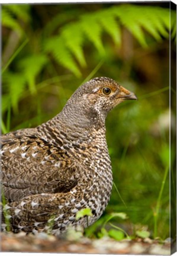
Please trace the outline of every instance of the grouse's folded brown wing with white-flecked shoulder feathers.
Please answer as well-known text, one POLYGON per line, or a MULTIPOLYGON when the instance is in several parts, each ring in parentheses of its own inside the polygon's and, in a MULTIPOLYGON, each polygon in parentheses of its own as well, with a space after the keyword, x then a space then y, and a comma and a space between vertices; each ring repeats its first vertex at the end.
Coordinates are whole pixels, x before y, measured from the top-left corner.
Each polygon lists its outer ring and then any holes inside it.
POLYGON ((7 200, 66 193, 78 183, 78 166, 62 146, 28 132, 12 132, 1 141, 2 192, 7 200))

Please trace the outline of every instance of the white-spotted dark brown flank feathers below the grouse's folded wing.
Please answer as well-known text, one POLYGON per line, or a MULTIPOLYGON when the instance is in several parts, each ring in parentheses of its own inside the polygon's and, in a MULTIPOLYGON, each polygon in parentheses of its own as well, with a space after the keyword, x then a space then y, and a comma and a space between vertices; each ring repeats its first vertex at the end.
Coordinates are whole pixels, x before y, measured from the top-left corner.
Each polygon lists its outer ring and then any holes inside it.
POLYGON ((70 223, 75 221, 75 203, 79 203, 81 200, 73 200, 72 194, 73 191, 72 193, 42 193, 8 203, 5 205, 2 215, 2 228, 8 226, 8 229, 15 233, 20 229, 25 232, 48 231, 48 228, 56 229, 56 231, 65 229, 65 224, 71 217, 68 216, 68 213, 73 214, 70 223), (9 216, 10 222, 7 222, 7 216, 9 216))

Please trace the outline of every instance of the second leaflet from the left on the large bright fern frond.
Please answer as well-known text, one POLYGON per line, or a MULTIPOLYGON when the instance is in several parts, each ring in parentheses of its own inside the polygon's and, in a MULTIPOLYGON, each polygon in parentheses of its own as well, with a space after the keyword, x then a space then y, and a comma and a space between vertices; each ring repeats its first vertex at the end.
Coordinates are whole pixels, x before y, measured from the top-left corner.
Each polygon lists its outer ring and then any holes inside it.
POLYGON ((82 50, 83 34, 79 24, 76 23, 66 26, 63 29, 61 36, 63 37, 63 40, 66 41, 66 46, 70 52, 75 55, 80 65, 86 66, 85 57, 82 50))

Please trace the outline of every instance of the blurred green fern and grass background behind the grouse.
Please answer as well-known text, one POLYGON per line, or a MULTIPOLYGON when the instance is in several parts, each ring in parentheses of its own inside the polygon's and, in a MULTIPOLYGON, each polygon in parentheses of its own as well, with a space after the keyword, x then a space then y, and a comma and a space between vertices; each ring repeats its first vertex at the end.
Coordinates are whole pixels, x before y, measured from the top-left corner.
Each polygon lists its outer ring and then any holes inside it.
MULTIPOLYGON (((123 212, 128 219, 116 224, 128 235, 147 226, 152 236, 170 236, 169 34, 175 69, 175 24, 168 2, 2 5, 3 133, 51 119, 95 76, 111 77, 139 98, 108 116, 115 186, 104 215, 87 233, 111 212, 123 212)), ((122 232, 111 228, 110 234, 122 232)))

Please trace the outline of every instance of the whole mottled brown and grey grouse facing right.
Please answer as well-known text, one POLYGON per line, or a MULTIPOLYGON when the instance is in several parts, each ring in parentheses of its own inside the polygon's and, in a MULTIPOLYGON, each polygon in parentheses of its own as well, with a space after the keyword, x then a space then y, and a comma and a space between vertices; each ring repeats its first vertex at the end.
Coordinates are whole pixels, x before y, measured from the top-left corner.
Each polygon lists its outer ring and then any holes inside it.
POLYGON ((1 136, 2 229, 59 235, 69 226, 91 225, 105 210, 112 188, 105 138, 108 112, 136 95, 110 78, 79 87, 52 120, 1 136), (76 220, 90 208, 92 216, 76 220))

